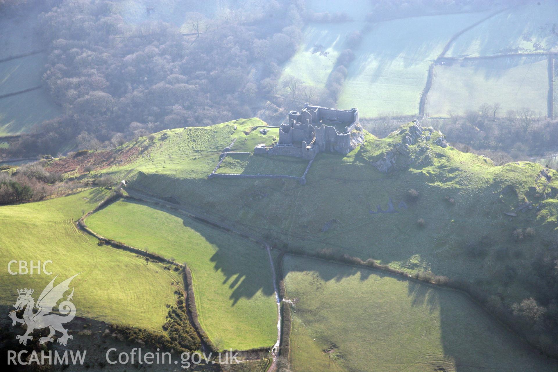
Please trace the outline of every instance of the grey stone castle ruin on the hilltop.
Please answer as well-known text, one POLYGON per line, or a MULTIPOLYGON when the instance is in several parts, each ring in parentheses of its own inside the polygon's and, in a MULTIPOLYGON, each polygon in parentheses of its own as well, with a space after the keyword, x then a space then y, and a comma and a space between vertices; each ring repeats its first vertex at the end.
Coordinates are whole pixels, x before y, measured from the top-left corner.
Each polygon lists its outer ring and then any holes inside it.
POLYGON ((258 144, 254 154, 313 159, 320 152, 347 154, 363 141, 358 109, 338 110, 306 103, 300 113, 288 113, 288 122, 281 124, 275 146, 258 144))

